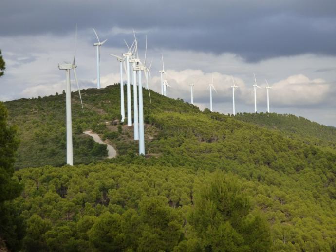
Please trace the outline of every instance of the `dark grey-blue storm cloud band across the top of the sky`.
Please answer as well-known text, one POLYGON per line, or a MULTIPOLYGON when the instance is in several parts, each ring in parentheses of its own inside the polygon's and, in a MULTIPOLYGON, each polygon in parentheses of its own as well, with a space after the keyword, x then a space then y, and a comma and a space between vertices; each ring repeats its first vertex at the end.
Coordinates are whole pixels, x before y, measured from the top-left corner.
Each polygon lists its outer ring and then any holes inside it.
MULTIPOLYGON (((149 30, 156 48, 235 53, 248 61, 336 54, 335 0, 41 1, 4 0, 0 36, 57 36, 96 27, 149 30)), ((91 31, 90 31, 91 32, 91 31)), ((93 34, 92 34, 93 35, 93 34)), ((94 41, 94 36, 92 38, 94 41)), ((131 39, 131 36, 129 36, 131 39)), ((120 46, 109 37, 108 46, 120 46)))

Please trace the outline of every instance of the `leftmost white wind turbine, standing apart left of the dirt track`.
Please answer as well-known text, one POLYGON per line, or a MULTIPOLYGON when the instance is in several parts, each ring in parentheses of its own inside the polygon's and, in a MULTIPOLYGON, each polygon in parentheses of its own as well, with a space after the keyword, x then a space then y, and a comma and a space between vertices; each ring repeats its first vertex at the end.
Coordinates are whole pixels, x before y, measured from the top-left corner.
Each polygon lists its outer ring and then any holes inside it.
MULTIPOLYGON (((76 26, 76 41, 77 41, 77 26, 76 26)), ((79 90, 79 84, 77 79, 77 74, 75 68, 77 67, 75 65, 75 57, 76 57, 76 47, 75 47, 75 54, 74 54, 74 61, 73 63, 65 63, 65 64, 58 64, 59 70, 65 70, 66 73, 66 126, 67 126, 67 164, 74 165, 74 157, 73 157, 73 132, 72 132, 72 119, 71 119, 71 83, 70 83, 70 70, 74 70, 74 76, 75 81, 78 88, 80 103, 82 105, 82 110, 84 112, 83 108, 83 102, 82 102, 82 96, 80 94, 79 90)))

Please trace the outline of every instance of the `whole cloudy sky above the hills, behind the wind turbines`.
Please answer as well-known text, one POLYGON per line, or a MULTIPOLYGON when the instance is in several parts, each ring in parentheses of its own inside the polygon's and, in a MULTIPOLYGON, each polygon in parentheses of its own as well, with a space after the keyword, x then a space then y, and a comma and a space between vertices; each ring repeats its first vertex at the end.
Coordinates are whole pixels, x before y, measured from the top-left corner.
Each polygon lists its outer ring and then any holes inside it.
MULTIPOLYGON (((0 100, 31 98, 65 90, 58 64, 76 65, 81 88, 96 87, 95 28, 101 47, 101 86, 120 81, 119 63, 109 54, 126 53, 133 29, 144 61, 152 59, 149 87, 160 91, 164 57, 167 95, 209 108, 208 84, 214 76, 213 110, 257 110, 306 117, 336 126, 335 0, 2 0, 0 49, 6 62, 0 100), (77 43, 75 43, 77 24, 77 43)), ((72 89, 76 89, 72 82, 72 89)), ((85 101, 83 101, 85 103, 85 101)))

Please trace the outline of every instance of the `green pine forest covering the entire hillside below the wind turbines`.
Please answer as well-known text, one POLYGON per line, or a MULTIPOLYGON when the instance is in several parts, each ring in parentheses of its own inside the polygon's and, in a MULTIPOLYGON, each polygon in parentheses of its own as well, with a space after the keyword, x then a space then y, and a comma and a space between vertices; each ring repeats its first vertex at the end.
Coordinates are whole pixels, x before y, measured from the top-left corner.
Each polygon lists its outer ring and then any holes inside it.
POLYGON ((73 93, 73 167, 64 93, 4 103, 20 140, 10 162, 18 190, 0 202, 10 250, 336 251, 335 128, 200 111, 152 91, 150 102, 144 90, 138 156, 131 127, 114 125, 119 90, 83 90, 84 113, 73 93))

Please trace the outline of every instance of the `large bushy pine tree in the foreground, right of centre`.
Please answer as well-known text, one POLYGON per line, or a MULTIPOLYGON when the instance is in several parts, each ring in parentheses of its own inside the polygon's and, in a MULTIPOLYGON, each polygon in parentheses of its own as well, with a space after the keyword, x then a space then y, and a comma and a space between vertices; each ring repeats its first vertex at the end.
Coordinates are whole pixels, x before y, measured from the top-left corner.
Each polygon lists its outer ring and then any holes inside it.
POLYGON ((248 216, 250 203, 235 177, 215 172, 210 185, 198 190, 189 221, 206 250, 270 250, 269 224, 248 216))

